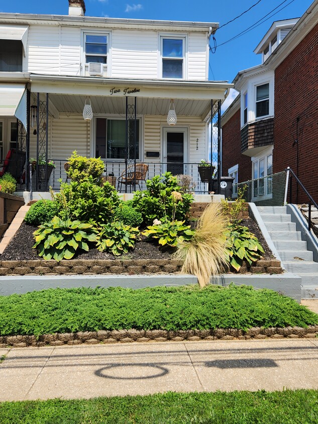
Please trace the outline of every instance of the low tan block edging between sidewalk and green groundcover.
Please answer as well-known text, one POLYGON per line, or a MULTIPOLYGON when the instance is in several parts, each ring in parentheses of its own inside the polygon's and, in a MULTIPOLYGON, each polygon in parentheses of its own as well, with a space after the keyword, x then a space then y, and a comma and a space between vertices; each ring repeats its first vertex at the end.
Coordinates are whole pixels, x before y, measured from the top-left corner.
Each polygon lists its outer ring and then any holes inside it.
POLYGON ((251 339, 314 339, 318 335, 318 326, 260 328, 252 327, 246 332, 238 329, 215 330, 113 330, 83 331, 78 333, 55 333, 35 336, 3 336, 0 347, 13 346, 61 346, 61 345, 96 345, 98 343, 131 343, 131 342, 179 342, 183 340, 251 340, 251 339))

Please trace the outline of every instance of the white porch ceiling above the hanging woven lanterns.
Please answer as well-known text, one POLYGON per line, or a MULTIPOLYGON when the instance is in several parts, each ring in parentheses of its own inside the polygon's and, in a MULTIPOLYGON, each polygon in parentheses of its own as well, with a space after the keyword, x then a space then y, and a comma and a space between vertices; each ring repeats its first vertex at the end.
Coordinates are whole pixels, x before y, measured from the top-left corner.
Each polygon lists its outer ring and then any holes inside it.
MULTIPOLYGON (((78 113, 83 112, 85 96, 68 94, 49 94, 49 102, 58 112, 78 113)), ((129 99, 130 103, 133 101, 129 99)), ((126 97, 90 96, 91 107, 94 114, 126 114, 126 97)), ((137 97, 138 115, 167 115, 170 99, 168 98, 143 98, 137 97)), ((176 114, 179 116, 201 116, 206 118, 210 108, 210 100, 174 100, 176 114)))

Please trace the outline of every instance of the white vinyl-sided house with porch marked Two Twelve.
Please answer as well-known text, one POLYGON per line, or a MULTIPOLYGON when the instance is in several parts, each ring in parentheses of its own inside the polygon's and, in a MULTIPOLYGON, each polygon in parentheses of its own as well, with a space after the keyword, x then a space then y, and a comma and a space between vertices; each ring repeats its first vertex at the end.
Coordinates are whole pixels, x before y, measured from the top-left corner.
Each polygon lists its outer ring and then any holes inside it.
POLYGON ((209 37, 218 24, 84 14, 83 0, 69 0, 66 16, 0 13, 4 167, 10 149, 25 152, 21 184, 58 188, 76 150, 101 157, 107 174, 120 177, 142 163, 147 178, 188 174, 195 191, 206 192, 197 163, 216 147, 220 137, 208 125, 233 86, 208 81, 209 37), (175 114, 167 120, 169 110, 175 114), (54 161, 48 182, 29 170, 30 158, 54 161))

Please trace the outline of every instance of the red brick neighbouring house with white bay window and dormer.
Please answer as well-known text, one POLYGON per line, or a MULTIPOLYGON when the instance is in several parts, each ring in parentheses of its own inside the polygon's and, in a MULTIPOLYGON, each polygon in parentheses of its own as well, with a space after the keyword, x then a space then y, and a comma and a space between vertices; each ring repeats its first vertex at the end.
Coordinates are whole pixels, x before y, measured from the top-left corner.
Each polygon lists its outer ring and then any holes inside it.
POLYGON ((240 94, 222 116, 222 170, 237 182, 256 179, 252 201, 272 197, 267 179, 257 179, 287 166, 318 200, 317 23, 318 0, 301 18, 274 22, 254 51, 262 64, 233 81, 240 94))

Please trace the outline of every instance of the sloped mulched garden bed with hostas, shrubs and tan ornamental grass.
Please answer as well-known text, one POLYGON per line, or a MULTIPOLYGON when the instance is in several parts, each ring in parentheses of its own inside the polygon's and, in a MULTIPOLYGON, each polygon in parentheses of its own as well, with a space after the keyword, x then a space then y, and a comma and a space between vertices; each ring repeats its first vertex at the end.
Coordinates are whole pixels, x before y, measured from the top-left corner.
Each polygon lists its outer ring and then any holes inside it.
MULTIPOLYGON (((263 247, 238 218, 242 196, 232 207, 210 203, 194 222, 189 215, 193 196, 170 173, 148 180, 147 190, 124 202, 110 183, 101 183, 102 172, 100 159, 74 152, 69 158, 71 182, 62 183, 59 193, 52 192, 52 200, 31 206, 26 224, 0 260, 171 258, 183 264, 183 273, 196 275, 203 287, 211 275, 247 270, 262 258, 272 259, 264 241, 263 247)), ((251 220, 247 224, 257 227, 251 220)), ((2 266, 0 272, 6 275, 8 264, 2 266)), ((266 266, 271 268, 271 263, 266 266)), ((38 268, 34 264, 29 273, 38 268)))

